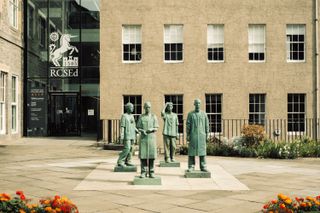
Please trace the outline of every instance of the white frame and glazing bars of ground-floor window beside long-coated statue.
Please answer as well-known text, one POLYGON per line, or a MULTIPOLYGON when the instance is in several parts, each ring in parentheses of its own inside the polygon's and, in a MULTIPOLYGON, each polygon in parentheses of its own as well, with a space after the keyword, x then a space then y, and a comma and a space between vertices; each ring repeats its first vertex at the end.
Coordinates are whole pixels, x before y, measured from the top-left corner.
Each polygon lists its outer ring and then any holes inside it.
MULTIPOLYGON (((215 97, 216 99, 217 97, 215 97)), ((217 106, 215 106, 217 108, 217 106)), ((223 94, 222 93, 206 93, 205 94, 205 112, 208 116, 208 120, 209 120, 209 134, 210 135, 220 135, 222 134, 223 132, 223 94), (218 102, 210 102, 208 103, 207 102, 207 97, 210 96, 210 100, 212 100, 215 96, 220 96, 220 108, 221 108, 221 112, 218 113, 218 112, 208 112, 207 110, 207 105, 210 105, 210 106, 215 106, 215 104, 218 104, 218 102), (212 123, 212 129, 214 129, 214 126, 216 126, 216 129, 217 129, 217 126, 219 125, 218 122, 214 122, 210 120, 210 115, 220 115, 220 132, 217 131, 217 132, 214 132, 214 131, 211 131, 211 123, 212 123)))

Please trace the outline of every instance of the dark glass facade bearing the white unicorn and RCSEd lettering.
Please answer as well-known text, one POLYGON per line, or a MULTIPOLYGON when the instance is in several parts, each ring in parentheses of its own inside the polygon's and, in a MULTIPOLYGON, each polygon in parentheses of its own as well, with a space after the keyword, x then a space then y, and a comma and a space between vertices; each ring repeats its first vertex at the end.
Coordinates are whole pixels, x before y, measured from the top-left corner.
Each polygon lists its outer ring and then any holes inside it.
POLYGON ((27 1, 26 136, 97 134, 99 1, 27 1))

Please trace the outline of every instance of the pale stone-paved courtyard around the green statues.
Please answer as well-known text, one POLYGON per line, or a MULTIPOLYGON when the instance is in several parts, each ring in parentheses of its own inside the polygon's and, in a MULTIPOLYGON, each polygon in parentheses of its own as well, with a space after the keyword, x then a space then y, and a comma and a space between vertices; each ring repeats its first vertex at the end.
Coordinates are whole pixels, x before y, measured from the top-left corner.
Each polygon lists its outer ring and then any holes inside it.
POLYGON ((258 212, 280 192, 320 194, 320 159, 208 157, 212 178, 190 180, 183 177, 187 157, 178 156, 181 168, 156 167, 162 186, 134 186, 138 173, 113 172, 117 155, 79 138, 0 141, 0 193, 65 195, 81 213, 258 212))

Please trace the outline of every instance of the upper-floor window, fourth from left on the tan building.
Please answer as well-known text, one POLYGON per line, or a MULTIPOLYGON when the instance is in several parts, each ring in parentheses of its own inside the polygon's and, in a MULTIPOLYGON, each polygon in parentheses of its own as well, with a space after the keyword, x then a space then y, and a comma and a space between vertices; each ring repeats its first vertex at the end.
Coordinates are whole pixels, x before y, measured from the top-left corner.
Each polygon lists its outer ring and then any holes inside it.
POLYGON ((265 25, 250 24, 248 39, 249 61, 265 61, 265 25))

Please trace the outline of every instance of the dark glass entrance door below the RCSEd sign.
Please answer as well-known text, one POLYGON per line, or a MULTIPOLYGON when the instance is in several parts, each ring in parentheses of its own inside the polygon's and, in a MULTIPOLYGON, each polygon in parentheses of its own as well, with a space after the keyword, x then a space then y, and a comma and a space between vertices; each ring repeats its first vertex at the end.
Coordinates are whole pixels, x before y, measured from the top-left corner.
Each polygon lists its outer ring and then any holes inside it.
POLYGON ((80 136, 78 93, 50 94, 50 135, 80 136))

